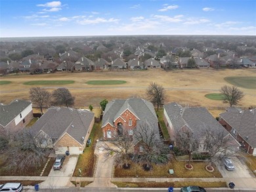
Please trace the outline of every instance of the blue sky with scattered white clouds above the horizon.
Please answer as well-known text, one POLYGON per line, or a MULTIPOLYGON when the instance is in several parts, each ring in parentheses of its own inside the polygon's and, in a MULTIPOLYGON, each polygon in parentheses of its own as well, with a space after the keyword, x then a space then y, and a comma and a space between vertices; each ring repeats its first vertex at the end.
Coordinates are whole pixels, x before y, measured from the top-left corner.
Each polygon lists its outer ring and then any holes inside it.
POLYGON ((256 35, 255 0, 0 0, 0 37, 256 35))

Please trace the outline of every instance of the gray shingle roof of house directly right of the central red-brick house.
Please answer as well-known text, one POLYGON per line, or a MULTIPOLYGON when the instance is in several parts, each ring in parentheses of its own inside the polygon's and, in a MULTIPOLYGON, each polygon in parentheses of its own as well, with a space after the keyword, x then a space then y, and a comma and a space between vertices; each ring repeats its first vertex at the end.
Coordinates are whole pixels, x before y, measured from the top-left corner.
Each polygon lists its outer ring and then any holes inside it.
POLYGON ((205 130, 224 131, 228 135, 228 131, 216 121, 205 107, 182 107, 173 102, 165 105, 164 109, 175 130, 188 126, 199 138, 203 137, 205 130))

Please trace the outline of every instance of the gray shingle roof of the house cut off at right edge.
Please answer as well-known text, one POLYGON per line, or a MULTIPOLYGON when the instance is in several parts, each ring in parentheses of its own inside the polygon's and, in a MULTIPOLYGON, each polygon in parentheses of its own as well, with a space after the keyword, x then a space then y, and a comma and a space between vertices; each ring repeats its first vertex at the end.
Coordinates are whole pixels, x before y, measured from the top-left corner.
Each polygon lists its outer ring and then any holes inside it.
POLYGON ((229 109, 221 113, 220 117, 232 126, 249 145, 256 147, 256 108, 244 111, 229 109))

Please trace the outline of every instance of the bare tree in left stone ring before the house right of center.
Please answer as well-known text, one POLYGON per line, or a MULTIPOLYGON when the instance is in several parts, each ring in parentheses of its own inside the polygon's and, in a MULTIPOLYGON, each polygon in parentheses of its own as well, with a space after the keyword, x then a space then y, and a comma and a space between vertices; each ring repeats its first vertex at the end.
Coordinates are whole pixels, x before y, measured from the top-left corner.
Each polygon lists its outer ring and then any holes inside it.
POLYGON ((192 152, 198 149, 198 138, 194 135, 194 132, 187 126, 177 130, 175 133, 176 145, 188 155, 188 164, 192 160, 192 152))

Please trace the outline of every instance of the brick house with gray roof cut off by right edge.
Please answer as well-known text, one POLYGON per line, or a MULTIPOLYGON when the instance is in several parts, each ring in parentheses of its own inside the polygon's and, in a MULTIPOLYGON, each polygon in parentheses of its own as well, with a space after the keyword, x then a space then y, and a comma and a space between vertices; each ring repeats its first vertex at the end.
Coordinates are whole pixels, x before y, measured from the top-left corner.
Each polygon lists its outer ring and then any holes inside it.
POLYGON ((229 107, 220 114, 219 123, 242 145, 242 149, 256 156, 256 108, 242 111, 229 107))

